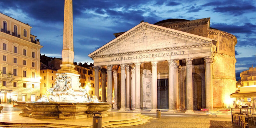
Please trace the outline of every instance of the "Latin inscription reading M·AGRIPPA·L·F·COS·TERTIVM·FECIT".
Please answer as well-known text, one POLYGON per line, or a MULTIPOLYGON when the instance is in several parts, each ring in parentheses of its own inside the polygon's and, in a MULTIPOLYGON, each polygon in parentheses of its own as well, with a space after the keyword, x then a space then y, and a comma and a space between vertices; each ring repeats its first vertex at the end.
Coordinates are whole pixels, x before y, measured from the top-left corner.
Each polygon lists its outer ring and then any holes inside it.
POLYGON ((154 58, 154 57, 164 57, 164 56, 175 56, 175 55, 184 55, 185 51, 176 51, 176 52, 167 52, 167 53, 158 53, 158 54, 147 54, 147 55, 137 55, 137 56, 127 56, 127 57, 118 57, 111 58, 111 61, 118 60, 132 60, 132 59, 142 59, 142 58, 154 58))

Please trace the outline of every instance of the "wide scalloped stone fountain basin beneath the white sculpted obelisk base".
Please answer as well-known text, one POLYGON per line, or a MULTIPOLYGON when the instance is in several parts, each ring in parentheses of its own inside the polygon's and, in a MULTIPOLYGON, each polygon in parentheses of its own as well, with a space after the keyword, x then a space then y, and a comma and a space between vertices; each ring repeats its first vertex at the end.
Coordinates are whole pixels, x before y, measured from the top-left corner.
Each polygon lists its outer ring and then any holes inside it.
POLYGON ((16 102, 19 109, 25 115, 36 119, 80 119, 91 117, 93 112, 102 112, 102 116, 108 116, 107 112, 111 103, 66 103, 66 102, 16 102), (24 112, 30 112, 25 113, 24 112))

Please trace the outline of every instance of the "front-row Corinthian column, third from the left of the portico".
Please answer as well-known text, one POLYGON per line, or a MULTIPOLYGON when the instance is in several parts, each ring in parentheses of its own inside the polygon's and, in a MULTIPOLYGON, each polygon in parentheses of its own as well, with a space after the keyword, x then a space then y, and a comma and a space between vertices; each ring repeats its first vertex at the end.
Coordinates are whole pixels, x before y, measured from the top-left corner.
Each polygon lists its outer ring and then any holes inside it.
POLYGON ((125 64, 121 64, 121 108, 125 110, 125 64))

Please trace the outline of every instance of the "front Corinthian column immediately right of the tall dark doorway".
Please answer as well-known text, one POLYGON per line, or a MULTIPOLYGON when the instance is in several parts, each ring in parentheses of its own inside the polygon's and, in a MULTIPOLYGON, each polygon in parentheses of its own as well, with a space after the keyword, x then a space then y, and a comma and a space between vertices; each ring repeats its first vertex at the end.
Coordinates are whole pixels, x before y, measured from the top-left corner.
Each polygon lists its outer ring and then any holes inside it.
POLYGON ((168 84, 169 84, 169 110, 168 112, 175 112, 175 104, 174 104, 174 84, 173 84, 173 79, 174 79, 174 62, 175 60, 167 60, 168 61, 168 66, 169 66, 169 78, 168 78, 168 84))

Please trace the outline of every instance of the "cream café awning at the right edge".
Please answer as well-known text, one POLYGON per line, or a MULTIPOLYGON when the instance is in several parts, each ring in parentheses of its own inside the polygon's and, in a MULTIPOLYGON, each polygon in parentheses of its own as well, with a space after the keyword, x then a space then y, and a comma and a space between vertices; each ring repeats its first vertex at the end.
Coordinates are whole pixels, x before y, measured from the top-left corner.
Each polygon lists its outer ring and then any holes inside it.
POLYGON ((256 85, 239 87, 240 90, 230 94, 230 98, 256 97, 256 85))

